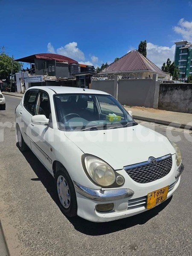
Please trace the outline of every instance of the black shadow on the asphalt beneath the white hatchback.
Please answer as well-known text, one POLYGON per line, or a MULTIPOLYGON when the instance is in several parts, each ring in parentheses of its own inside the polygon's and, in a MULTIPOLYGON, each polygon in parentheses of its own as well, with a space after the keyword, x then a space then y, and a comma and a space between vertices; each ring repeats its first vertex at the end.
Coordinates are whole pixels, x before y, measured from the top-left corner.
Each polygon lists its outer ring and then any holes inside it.
MULTIPOLYGON (((35 172, 38 178, 31 178, 33 181, 41 181, 44 187, 47 189, 47 192, 55 201, 55 204, 58 205, 58 199, 55 194, 55 187, 54 187, 54 178, 52 175, 47 171, 47 169, 41 164, 41 162, 35 157, 32 151, 22 152, 23 156, 26 158, 27 162, 30 164, 31 168, 35 172)), ((129 218, 123 218, 117 221, 110 221, 110 222, 103 222, 103 223, 95 223, 91 221, 87 221, 80 217, 73 217, 68 218, 71 224, 73 224, 74 228, 84 233, 88 236, 101 236, 108 233, 114 233, 119 230, 124 230, 136 225, 143 225, 151 218, 154 218, 156 215, 159 214, 172 200, 172 196, 167 199, 162 204, 154 207, 151 210, 146 212, 137 214, 135 216, 129 218)), ((64 216, 65 217, 65 216, 64 216)))

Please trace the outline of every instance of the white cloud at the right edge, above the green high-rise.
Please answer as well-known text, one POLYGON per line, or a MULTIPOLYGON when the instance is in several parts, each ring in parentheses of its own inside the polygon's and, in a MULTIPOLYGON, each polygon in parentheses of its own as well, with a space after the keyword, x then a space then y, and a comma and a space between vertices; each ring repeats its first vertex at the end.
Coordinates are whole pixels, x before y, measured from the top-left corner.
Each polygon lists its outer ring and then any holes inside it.
POLYGON ((187 21, 182 18, 179 20, 178 26, 173 27, 173 30, 177 34, 182 35, 182 38, 184 40, 187 40, 187 41, 192 40, 192 21, 187 21))

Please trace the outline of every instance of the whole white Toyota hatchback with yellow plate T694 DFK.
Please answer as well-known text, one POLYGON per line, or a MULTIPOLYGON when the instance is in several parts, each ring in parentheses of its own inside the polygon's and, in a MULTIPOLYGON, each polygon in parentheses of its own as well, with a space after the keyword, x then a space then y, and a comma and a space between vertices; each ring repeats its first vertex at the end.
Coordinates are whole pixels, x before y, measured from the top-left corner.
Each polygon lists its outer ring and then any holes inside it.
POLYGON ((184 167, 166 137, 137 124, 108 93, 31 87, 16 112, 18 147, 55 178, 62 212, 104 222, 169 198, 184 167))

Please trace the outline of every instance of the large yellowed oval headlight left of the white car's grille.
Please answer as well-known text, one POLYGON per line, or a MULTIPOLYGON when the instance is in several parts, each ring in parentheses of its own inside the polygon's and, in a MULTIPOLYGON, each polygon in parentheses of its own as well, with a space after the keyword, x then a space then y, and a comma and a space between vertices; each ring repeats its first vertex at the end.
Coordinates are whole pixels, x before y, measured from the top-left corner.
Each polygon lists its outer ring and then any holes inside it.
POLYGON ((125 183, 122 175, 98 157, 89 154, 82 156, 82 165, 85 173, 93 183, 102 187, 119 187, 125 183))

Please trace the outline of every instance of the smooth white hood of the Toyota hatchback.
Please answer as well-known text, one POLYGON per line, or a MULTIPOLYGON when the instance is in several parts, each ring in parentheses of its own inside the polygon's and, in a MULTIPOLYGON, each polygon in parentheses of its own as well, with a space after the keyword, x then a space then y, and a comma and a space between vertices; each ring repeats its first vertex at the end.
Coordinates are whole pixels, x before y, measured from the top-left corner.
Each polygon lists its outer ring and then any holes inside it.
POLYGON ((107 162, 113 169, 122 169, 148 160, 175 154, 169 140, 142 125, 100 131, 65 131, 67 138, 84 154, 91 154, 107 162))

